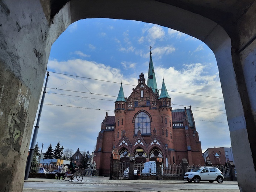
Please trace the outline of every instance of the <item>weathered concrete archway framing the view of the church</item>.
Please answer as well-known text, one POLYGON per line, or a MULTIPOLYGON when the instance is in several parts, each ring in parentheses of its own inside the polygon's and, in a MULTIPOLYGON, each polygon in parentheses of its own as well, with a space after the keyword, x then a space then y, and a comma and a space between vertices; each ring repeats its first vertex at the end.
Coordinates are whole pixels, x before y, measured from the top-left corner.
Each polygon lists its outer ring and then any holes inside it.
MULTIPOLYGON (((1 0, 1 191, 22 191, 28 144, 51 45, 71 23, 116 18, 159 24, 215 54, 241 191, 256 190, 256 1, 1 0)), ((89 30, 89 29, 88 29, 89 30)))

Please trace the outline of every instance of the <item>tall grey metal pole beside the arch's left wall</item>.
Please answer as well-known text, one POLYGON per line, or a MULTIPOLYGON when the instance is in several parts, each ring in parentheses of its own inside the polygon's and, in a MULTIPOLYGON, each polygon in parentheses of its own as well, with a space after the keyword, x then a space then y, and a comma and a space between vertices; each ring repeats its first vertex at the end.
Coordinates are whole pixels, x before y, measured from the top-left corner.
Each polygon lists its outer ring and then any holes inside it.
POLYGON ((32 161, 33 154, 34 154, 34 151, 35 151, 35 141, 37 140, 37 133, 38 133, 38 129, 39 129, 39 122, 40 122, 40 117, 41 117, 41 112, 42 112, 42 106, 44 104, 44 97, 45 97, 45 93, 46 93, 48 77, 50 76, 49 72, 47 71, 47 68, 46 68, 46 72, 47 72, 47 74, 46 74, 47 78, 46 78, 46 81, 45 81, 45 86, 44 86, 44 91, 43 91, 42 100, 41 100, 41 104, 40 104, 40 109, 39 109, 39 112, 38 112, 37 124, 35 126, 32 142, 31 142, 31 145, 30 145, 30 151, 29 151, 29 155, 28 155, 27 166, 26 166, 26 169, 25 169, 25 179, 24 180, 28 180, 31 161, 32 161))

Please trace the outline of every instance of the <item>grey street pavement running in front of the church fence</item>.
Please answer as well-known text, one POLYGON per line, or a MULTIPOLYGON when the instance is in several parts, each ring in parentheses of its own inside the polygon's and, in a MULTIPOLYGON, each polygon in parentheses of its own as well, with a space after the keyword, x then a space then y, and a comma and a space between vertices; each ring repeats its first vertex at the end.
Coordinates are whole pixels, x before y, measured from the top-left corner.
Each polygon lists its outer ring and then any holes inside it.
POLYGON ((224 181, 199 184, 187 181, 109 180, 108 177, 84 177, 81 182, 57 179, 28 178, 23 192, 240 192, 238 183, 224 181))

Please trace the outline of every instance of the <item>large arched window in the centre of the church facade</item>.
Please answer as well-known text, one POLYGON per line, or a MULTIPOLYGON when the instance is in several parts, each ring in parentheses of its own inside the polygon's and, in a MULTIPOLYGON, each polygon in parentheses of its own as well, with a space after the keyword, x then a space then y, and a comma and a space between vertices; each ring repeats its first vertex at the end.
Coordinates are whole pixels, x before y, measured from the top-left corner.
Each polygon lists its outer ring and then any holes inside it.
POLYGON ((145 112, 137 114, 135 121, 135 134, 140 130, 141 134, 150 134, 150 118, 145 112))

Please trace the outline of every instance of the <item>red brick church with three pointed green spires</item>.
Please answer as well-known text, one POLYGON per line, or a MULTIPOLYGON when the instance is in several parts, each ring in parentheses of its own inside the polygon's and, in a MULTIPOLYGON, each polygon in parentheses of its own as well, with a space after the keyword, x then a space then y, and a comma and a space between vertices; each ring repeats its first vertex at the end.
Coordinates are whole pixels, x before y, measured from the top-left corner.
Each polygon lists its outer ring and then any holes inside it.
POLYGON ((121 83, 115 116, 106 113, 101 124, 94 152, 100 176, 109 176, 113 148, 118 150, 120 162, 129 161, 133 155, 137 162, 161 157, 164 164, 180 164, 186 158, 190 165, 204 165, 191 106, 172 109, 164 79, 159 94, 151 54, 147 82, 140 73, 138 85, 128 98, 121 83))

